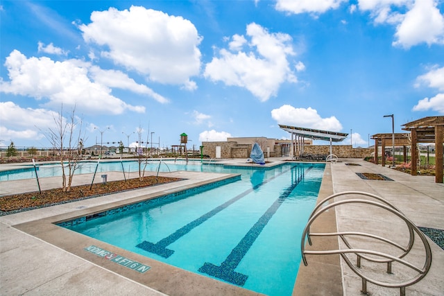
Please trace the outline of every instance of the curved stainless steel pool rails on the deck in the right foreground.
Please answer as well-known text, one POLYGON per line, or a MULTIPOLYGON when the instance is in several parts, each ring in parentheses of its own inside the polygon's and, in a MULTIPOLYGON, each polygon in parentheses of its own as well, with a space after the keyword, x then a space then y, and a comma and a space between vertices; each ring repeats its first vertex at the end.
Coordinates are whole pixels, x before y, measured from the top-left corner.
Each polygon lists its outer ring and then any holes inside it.
MULTIPOLYGON (((386 223, 385 221, 382 223, 386 223)), ((367 281, 370 283, 373 283, 377 286, 383 286, 387 288, 400 288, 400 295, 405 295, 405 288, 407 286, 411 286, 413 284, 416 284, 418 281, 420 281, 422 278, 427 275, 427 272, 429 272, 430 265, 432 264, 432 250, 430 249, 430 245, 427 242, 427 238, 425 235, 414 225, 409 218, 404 216, 402 212, 396 208, 393 204, 388 202, 387 200, 384 200, 383 198, 366 192, 361 191, 344 191, 341 193, 336 193, 333 195, 330 195, 329 197, 325 198, 325 200, 321 201, 312 211, 311 216, 308 220, 308 223, 304 229, 304 232, 302 233, 302 239, 301 239, 301 253, 302 253, 302 261, 305 266, 308 265, 307 263, 307 255, 327 255, 327 254, 340 254, 345 263, 350 267, 350 269, 353 270, 359 277, 361 277, 362 280, 362 290, 361 293, 368 295, 367 291, 367 281), (364 195, 366 199, 364 198, 350 198, 350 195, 361 195, 361 197, 364 195), (334 202, 331 202, 333 198, 339 198, 343 197, 345 199, 336 200, 334 202), (370 199, 369 199, 370 198, 370 199), (373 207, 379 207, 381 209, 384 209, 388 212, 388 214, 393 214, 395 216, 398 216, 404 223, 407 225, 407 229, 409 231, 409 242, 407 245, 401 245, 400 243, 396 243, 395 241, 391 241, 388 238, 384 238, 382 236, 377 236, 375 234, 365 233, 365 232, 329 232, 329 233, 314 233, 310 231, 311 225, 314 223, 316 218, 321 216, 323 213, 328 211, 329 209, 332 209, 334 207, 339 207, 343 204, 366 204, 373 207), (307 238, 307 241, 309 245, 312 245, 311 237, 312 236, 320 236, 320 237, 327 237, 327 236, 338 236, 341 238, 341 241, 345 245, 345 247, 338 247, 338 250, 305 250, 305 241, 307 238), (367 244, 368 248, 355 248, 352 246, 352 243, 348 240, 348 237, 355 236, 361 239, 367 239, 369 241, 373 241, 376 243, 379 243, 379 247, 377 247, 379 250, 371 250, 371 245, 367 244), (422 242, 422 247, 425 251, 424 254, 424 265, 422 267, 417 267, 416 265, 413 265, 413 263, 409 262, 405 257, 407 254, 409 254, 412 250, 413 243, 415 240, 415 237, 418 236, 420 238, 420 241, 422 242), (386 252, 380 251, 382 247, 380 247, 381 244, 385 244, 385 249, 388 249, 388 247, 395 247, 395 249, 399 249, 401 252, 400 254, 393 255, 388 254, 386 252), (347 254, 355 254, 356 255, 356 265, 350 261, 350 258, 347 256, 347 254), (370 255, 370 256, 366 256, 370 255), (415 272, 416 275, 412 276, 409 279, 402 280, 400 279, 399 282, 389 282, 389 281, 382 281, 382 279, 374 279, 370 277, 370 275, 364 275, 364 270, 361 268, 361 259, 365 259, 367 261, 374 262, 376 264, 386 264, 386 273, 387 275, 385 277, 390 277, 390 275, 393 275, 392 272, 392 263, 397 262, 402 265, 407 266, 407 268, 410 268, 415 272)), ((375 247, 376 248, 376 247, 375 247)), ((417 251, 417 250, 416 250, 417 251)), ((398 251, 399 252, 399 251, 398 251)), ((374 264, 373 263, 373 264, 374 264)), ((370 267, 369 267, 370 268, 370 267)), ((375 270, 373 270, 374 272, 375 270)), ((380 277, 380 276, 379 276, 380 277)))

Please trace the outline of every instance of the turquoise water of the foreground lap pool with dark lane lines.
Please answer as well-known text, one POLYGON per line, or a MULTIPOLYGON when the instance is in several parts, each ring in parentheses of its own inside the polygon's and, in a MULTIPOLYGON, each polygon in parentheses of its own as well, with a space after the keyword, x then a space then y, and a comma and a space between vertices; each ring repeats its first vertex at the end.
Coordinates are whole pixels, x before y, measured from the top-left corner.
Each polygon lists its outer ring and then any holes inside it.
POLYGON ((291 295, 324 167, 213 166, 241 178, 61 226, 259 293, 291 295))

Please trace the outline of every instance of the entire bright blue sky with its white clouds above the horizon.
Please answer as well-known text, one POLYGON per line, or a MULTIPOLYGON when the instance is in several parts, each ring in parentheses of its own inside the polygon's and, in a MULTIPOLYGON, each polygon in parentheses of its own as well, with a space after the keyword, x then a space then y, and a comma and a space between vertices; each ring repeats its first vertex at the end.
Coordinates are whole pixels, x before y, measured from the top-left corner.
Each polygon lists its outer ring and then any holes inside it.
POLYGON ((62 107, 86 146, 284 124, 366 147, 444 114, 443 1, 1 0, 0 26, 0 146, 51 146, 62 107))

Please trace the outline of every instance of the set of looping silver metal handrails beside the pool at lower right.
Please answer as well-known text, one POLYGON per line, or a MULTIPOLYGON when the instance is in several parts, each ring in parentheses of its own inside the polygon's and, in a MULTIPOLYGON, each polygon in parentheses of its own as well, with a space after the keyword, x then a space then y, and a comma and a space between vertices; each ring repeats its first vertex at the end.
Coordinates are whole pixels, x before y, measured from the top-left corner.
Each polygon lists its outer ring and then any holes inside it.
POLYGON ((359 277, 361 277, 362 285, 363 285, 363 291, 362 291, 363 293, 366 293, 366 281, 370 281, 371 283, 376 284, 378 286, 384 286, 384 287, 388 287, 388 288, 401 288, 401 294, 404 294, 403 292, 405 292, 405 287, 411 286, 411 285, 417 283, 418 281, 420 281, 420 279, 422 279, 423 277, 425 277, 425 275, 427 275, 427 272, 429 271, 430 265, 432 264, 432 250, 430 249, 430 245, 427 242, 427 238, 425 237, 424 234, 422 234, 420 229, 418 229, 418 227, 416 227, 416 225, 414 225, 413 222, 411 222, 411 220, 409 220, 409 218, 404 216, 404 214, 402 214, 402 212, 398 208, 393 206, 393 204, 391 204, 390 202, 384 200, 383 198, 380 198, 377 195, 373 195, 371 193, 365 193, 365 192, 361 192, 361 191, 345 191, 343 193, 336 193, 334 195, 330 195, 329 197, 325 198, 325 200, 321 201, 315 207, 315 209, 311 213, 309 221, 304 229, 304 232, 302 232, 301 253, 302 253, 302 262, 306 266, 308 264, 307 258, 306 258, 307 254, 316 254, 316 255, 340 254, 342 256, 342 258, 344 259, 345 263, 347 263, 347 265, 359 277), (335 198, 340 195, 348 195, 348 194, 367 195, 367 196, 370 196, 372 198, 379 200, 380 202, 375 202, 374 200, 363 200, 363 199, 340 200, 337 202, 332 202, 331 204, 328 204, 327 206, 320 209, 323 206, 323 204, 325 204, 325 202, 327 202, 328 200, 331 200, 332 198, 335 198), (311 233, 310 234, 311 224, 314 223, 314 220, 316 220, 316 218, 321 216, 321 214, 325 213, 325 211, 328 211, 329 209, 332 209, 334 207, 339 207, 343 204, 353 204, 353 203, 368 204, 368 205, 372 205, 375 207, 379 207, 379 208, 385 209, 386 211, 390 212, 391 214, 394 214, 395 216, 398 216, 398 218, 402 219, 404 221, 404 223, 407 224, 407 227, 409 228, 409 236, 410 237, 409 237, 409 244, 407 245, 407 247, 402 247, 402 245, 395 243, 387 238, 382 238, 381 236, 376 236, 374 234, 367 234, 364 232, 332 232, 332 233, 327 233, 327 234, 325 234, 325 233, 311 233), (419 236, 420 240, 422 241, 422 245, 425 249, 425 262, 424 262, 424 265, 422 266, 422 268, 418 268, 418 267, 416 267, 416 265, 413 265, 412 263, 409 263, 408 261, 402 259, 404 256, 406 256, 411 251, 411 247, 413 245, 415 234, 417 234, 419 236), (388 243, 390 245, 398 247, 398 249, 400 249, 404 252, 402 254, 400 254, 399 256, 393 256, 391 254, 386 254, 384 252, 377 252, 375 250, 353 248, 351 246, 351 244, 345 238, 345 236, 350 236, 350 235, 366 236, 369 238, 374 238, 378 241, 382 241, 384 243, 388 243), (346 249, 339 249, 339 250, 325 250, 325 251, 305 250, 305 238, 307 237, 307 241, 308 241, 309 245, 311 245, 311 240, 309 239, 310 236, 339 236, 339 238, 342 239, 342 241, 345 243, 345 246, 347 248, 346 249), (357 264, 357 266, 353 265, 353 263, 350 261, 348 256, 345 255, 345 254, 350 254, 350 253, 357 255, 358 262, 359 262, 357 264), (377 257, 379 257, 379 259, 364 256, 363 254, 377 256, 377 257), (380 281, 377 279, 371 279, 370 277, 364 275, 363 272, 358 269, 360 267, 360 265, 359 265, 360 258, 364 258, 368 261, 373 261, 373 262, 377 262, 377 263, 388 263, 388 267, 389 267, 390 272, 391 272, 391 263, 393 261, 395 261, 395 262, 401 263, 402 265, 407 266, 408 268, 411 268, 412 270, 415 270, 416 272, 418 272, 418 275, 412 277, 411 279, 407 279, 405 281, 398 282, 398 283, 388 283, 388 282, 380 281))

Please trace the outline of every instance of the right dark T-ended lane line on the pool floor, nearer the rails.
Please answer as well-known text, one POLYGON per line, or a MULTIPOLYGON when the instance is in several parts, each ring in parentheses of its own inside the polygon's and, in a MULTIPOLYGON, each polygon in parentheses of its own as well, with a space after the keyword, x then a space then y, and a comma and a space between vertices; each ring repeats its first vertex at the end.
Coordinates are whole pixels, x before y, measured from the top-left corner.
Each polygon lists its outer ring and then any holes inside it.
MULTIPOLYGON (((308 168, 307 172, 311 169, 308 168)), ((259 220, 250 228, 244 238, 237 244, 236 247, 231 251, 228 257, 221 263, 220 266, 214 265, 213 263, 205 262, 202 267, 198 269, 198 272, 206 273, 212 277, 216 277, 218 279, 223 279, 224 281, 228 281, 231 284, 235 284, 237 286, 244 286, 246 280, 248 279, 248 275, 243 275, 240 272, 235 272, 234 269, 237 268, 237 265, 244 258, 245 254, 250 250, 250 247, 256 241, 256 238, 261 234, 264 227, 267 225, 268 221, 273 217, 273 215, 278 211, 282 202, 290 195, 291 191, 298 186, 300 181, 304 178, 304 171, 296 178, 294 182, 291 183, 290 186, 285 189, 279 198, 271 204, 271 206, 266 210, 264 215, 262 215, 259 220)))

